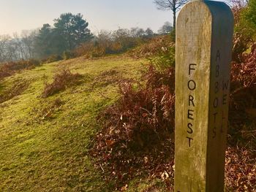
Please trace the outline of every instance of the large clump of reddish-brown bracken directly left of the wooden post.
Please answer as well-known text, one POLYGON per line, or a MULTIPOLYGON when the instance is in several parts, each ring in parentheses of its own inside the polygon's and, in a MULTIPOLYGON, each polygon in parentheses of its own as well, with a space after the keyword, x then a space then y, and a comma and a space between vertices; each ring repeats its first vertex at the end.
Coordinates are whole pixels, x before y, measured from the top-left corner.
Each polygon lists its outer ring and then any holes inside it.
POLYGON ((105 179, 116 179, 119 187, 140 174, 161 177, 166 166, 172 169, 174 69, 158 72, 150 66, 142 79, 145 86, 131 80, 120 83, 121 98, 99 115, 105 126, 91 150, 105 179))

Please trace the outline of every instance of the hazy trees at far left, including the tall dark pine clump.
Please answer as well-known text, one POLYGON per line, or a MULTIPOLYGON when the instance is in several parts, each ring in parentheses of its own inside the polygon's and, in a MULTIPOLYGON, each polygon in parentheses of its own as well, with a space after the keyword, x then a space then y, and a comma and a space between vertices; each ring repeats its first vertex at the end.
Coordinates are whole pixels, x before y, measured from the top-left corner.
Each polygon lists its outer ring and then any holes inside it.
POLYGON ((94 37, 88 26, 80 13, 64 13, 54 20, 53 26, 47 23, 39 30, 23 31, 20 36, 3 35, 0 37, 0 62, 47 58, 72 50, 94 37))

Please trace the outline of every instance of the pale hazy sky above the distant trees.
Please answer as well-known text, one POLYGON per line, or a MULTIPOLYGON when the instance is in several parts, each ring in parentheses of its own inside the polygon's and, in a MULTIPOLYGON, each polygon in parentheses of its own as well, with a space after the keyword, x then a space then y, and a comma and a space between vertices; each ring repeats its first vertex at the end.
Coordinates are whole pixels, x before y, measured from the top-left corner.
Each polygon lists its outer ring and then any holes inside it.
POLYGON ((165 21, 173 23, 170 11, 157 10, 153 0, 0 0, 0 34, 53 24, 64 12, 82 13, 89 28, 97 34, 101 29, 118 27, 150 27, 157 31, 165 21))

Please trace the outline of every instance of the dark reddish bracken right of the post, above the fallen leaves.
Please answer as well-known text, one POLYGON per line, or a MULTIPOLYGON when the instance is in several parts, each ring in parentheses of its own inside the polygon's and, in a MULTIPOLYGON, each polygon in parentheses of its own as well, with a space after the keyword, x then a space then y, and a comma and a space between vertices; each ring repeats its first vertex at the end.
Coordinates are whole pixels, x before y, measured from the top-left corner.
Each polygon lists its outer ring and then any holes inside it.
POLYGON ((233 63, 231 69, 229 132, 233 137, 230 142, 237 145, 239 139, 244 145, 251 139, 247 147, 253 148, 256 147, 256 44, 242 60, 241 64, 233 63))

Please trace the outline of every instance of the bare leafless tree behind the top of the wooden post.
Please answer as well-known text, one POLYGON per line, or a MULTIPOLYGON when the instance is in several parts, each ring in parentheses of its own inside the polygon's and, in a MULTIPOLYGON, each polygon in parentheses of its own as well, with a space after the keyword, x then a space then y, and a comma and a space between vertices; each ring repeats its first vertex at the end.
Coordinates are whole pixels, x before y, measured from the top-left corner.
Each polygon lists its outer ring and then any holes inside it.
POLYGON ((176 28, 176 12, 189 0, 154 0, 159 10, 172 10, 173 12, 173 29, 176 28))

